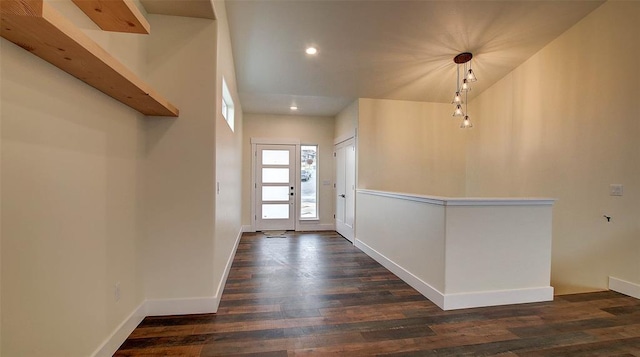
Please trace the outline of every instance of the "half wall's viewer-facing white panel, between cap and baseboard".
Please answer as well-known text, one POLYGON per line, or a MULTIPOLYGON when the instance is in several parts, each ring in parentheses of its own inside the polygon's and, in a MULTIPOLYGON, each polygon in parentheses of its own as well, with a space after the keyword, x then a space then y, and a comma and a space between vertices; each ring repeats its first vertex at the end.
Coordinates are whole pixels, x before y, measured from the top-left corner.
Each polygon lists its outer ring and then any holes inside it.
POLYGON ((449 202, 447 294, 549 287, 552 202, 449 202))

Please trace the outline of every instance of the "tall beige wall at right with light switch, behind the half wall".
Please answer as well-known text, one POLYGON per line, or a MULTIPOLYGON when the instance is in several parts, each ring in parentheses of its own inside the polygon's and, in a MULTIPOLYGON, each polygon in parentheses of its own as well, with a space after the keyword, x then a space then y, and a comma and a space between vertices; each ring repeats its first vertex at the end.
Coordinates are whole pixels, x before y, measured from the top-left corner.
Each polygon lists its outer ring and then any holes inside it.
POLYGON ((607 2, 470 103, 467 195, 558 198, 557 293, 640 284, 639 33, 639 2, 607 2))

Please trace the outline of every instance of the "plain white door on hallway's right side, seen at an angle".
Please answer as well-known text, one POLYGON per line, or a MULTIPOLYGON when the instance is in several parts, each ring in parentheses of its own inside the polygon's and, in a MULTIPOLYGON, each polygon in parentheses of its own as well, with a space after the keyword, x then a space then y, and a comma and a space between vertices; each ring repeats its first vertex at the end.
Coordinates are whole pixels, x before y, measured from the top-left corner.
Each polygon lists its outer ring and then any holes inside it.
POLYGON ((349 139, 335 147, 336 231, 353 242, 356 203, 356 147, 349 139))

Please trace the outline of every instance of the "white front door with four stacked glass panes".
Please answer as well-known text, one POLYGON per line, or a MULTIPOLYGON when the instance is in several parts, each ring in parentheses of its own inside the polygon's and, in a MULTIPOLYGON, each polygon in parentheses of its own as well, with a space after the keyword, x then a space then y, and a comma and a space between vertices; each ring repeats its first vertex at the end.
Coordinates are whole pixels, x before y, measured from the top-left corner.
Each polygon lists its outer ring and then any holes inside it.
POLYGON ((256 146, 256 230, 295 229, 295 145, 256 146))

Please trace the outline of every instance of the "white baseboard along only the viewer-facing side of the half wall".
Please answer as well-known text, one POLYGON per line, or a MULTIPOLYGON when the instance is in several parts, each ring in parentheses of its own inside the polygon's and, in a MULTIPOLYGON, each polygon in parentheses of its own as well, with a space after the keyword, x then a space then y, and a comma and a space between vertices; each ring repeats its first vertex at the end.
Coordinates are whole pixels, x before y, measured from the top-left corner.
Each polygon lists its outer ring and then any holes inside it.
POLYGON ((443 310, 552 301, 553 287, 445 294, 443 310))

